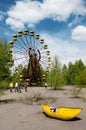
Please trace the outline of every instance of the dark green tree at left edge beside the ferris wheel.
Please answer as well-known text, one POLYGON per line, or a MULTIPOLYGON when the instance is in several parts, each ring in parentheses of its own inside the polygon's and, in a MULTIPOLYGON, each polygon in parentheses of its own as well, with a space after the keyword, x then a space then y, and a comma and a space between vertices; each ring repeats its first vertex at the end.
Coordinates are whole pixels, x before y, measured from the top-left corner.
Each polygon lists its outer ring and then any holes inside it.
POLYGON ((9 47, 6 40, 0 40, 0 86, 2 82, 10 78, 10 66, 11 54, 9 53, 9 47))

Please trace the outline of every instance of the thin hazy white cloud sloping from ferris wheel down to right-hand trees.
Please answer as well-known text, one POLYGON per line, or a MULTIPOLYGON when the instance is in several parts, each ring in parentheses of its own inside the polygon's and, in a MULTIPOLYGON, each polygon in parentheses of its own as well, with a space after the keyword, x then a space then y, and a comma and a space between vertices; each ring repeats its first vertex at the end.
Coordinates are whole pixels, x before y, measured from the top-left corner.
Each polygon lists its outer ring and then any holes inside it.
POLYGON ((70 61, 74 63, 79 59, 82 59, 85 63, 86 48, 83 47, 83 45, 81 49, 79 44, 77 46, 75 43, 71 43, 70 41, 65 41, 56 36, 50 36, 48 34, 42 33, 41 35, 44 37, 44 39, 46 39, 45 43, 48 44, 52 58, 57 55, 62 64, 68 64, 70 61))

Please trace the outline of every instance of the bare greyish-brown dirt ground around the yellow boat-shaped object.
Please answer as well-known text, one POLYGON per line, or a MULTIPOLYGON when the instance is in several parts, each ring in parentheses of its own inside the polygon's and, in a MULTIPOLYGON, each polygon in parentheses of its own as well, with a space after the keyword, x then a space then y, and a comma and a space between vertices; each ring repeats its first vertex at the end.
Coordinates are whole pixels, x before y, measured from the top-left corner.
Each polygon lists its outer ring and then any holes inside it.
POLYGON ((0 130, 86 130, 86 89, 81 90, 78 98, 71 95, 71 89, 72 86, 65 86, 63 90, 32 87, 27 92, 22 89, 22 93, 5 91, 0 96, 0 130), (35 96, 45 100, 36 101, 35 96), (16 101, 4 103, 10 99, 16 101), (33 99, 32 102, 29 99, 33 99), (74 120, 62 121, 46 117, 41 103, 55 107, 81 107, 83 111, 74 120))

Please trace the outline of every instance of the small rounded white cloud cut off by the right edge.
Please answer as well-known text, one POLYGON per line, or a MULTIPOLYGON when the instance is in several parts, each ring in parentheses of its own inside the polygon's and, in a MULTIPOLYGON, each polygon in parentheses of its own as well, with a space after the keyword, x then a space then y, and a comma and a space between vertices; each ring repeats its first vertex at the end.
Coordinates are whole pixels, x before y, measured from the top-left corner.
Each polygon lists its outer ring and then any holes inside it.
POLYGON ((77 41, 86 41, 86 26, 79 25, 72 30, 72 39, 77 41))

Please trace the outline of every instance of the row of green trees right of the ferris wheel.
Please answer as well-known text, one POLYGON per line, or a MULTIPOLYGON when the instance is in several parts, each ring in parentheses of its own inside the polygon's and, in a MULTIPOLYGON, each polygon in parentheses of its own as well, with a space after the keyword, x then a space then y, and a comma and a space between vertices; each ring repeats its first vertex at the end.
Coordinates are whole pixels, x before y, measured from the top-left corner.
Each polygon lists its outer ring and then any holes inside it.
POLYGON ((47 81, 54 89, 60 89, 64 85, 86 85, 86 66, 81 59, 75 63, 69 62, 68 65, 62 65, 58 56, 52 61, 52 67, 47 81))

